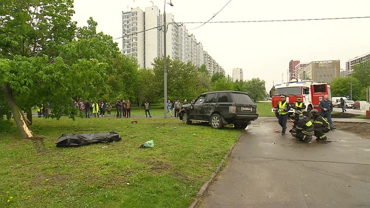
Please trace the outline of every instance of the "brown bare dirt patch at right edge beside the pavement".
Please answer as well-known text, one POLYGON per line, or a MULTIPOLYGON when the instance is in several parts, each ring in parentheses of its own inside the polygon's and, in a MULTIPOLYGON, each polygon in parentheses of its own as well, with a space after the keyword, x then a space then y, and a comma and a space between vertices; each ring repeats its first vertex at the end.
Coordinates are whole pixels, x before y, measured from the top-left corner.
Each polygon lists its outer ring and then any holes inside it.
POLYGON ((354 133, 362 138, 370 139, 370 123, 334 122, 338 130, 354 133))

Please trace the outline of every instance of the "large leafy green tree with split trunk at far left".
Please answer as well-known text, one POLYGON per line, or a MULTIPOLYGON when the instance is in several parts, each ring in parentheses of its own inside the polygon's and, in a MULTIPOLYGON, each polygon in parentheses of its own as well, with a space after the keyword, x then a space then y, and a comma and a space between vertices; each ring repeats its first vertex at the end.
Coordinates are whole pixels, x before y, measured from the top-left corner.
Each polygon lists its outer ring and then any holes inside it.
POLYGON ((48 101, 51 117, 73 118, 72 98, 106 91, 117 44, 97 33, 91 18, 76 31, 72 1, 11 1, 0 8, 0 92, 23 138, 33 137, 23 110, 48 101))

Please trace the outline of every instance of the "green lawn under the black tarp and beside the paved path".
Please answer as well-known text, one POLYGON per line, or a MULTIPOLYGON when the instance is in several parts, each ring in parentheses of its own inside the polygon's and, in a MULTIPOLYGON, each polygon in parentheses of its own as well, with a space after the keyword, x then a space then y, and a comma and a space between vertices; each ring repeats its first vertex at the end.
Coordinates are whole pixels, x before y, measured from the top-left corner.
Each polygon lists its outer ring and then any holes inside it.
POLYGON ((0 134, 0 207, 188 207, 242 131, 135 120, 34 117, 31 130, 43 142, 21 139, 11 121, 0 134), (122 141, 55 147, 62 134, 110 130, 122 141), (155 147, 139 149, 147 140, 155 147))

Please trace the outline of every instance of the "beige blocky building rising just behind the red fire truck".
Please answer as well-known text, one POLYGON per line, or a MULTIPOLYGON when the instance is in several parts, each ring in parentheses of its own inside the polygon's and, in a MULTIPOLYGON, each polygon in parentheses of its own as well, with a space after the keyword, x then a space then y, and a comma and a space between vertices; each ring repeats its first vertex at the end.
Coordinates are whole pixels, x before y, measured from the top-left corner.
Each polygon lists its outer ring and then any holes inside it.
POLYGON ((340 60, 316 61, 299 71, 298 79, 330 83, 340 77, 340 60))

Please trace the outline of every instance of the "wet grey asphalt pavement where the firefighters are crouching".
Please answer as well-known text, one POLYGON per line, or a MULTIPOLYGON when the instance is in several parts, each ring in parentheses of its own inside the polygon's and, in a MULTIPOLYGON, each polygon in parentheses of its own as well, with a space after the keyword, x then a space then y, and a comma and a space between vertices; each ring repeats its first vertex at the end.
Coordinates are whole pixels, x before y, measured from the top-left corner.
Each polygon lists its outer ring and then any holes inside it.
POLYGON ((336 130, 305 144, 275 129, 249 126, 199 207, 370 207, 370 140, 336 130))

